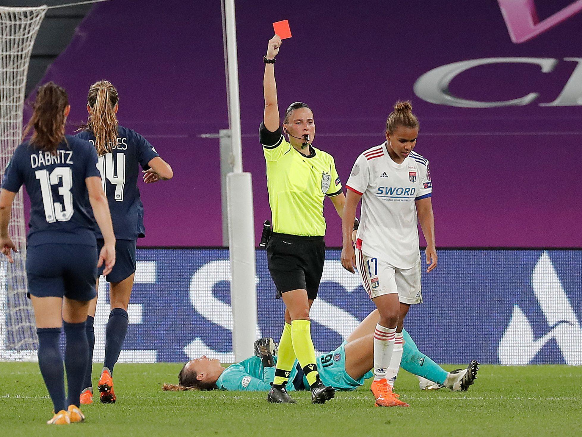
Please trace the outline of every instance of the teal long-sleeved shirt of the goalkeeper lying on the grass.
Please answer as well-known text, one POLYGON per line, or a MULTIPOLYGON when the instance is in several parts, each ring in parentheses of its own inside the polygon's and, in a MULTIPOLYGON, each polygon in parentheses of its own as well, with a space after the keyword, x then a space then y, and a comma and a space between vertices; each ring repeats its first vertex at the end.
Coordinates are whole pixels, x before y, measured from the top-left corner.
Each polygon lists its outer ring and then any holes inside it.
MULTIPOLYGON (((277 357, 275 362, 277 361, 277 357)), ((297 360, 289 375, 287 390, 295 390, 293 380, 297 376, 297 360)), ((228 366, 217 380, 217 387, 221 390, 265 392, 271 389, 271 382, 275 378, 274 367, 263 367, 261 358, 250 357, 246 360, 228 366)), ((303 378, 301 378, 303 380, 303 378)))

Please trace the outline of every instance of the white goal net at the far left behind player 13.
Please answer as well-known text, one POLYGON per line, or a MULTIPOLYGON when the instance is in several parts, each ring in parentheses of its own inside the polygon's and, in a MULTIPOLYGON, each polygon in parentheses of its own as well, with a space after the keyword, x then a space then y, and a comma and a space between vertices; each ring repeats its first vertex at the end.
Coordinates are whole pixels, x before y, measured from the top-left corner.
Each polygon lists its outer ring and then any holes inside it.
MULTIPOLYGON (((0 174, 22 138, 24 89, 30 54, 47 6, 0 6, 0 174)), ((12 208, 9 232, 20 252, 0 262, 0 360, 26 359, 38 346, 34 315, 26 297, 26 228, 22 189, 12 208)))

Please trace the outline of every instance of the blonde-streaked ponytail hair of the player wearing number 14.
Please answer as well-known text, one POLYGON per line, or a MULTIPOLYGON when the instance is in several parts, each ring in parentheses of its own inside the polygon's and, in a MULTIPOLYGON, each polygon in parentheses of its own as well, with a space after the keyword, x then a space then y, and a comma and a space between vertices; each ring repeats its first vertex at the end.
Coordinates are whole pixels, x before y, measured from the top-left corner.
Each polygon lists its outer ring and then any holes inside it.
POLYGON ((92 113, 79 130, 88 129, 93 132, 95 149, 99 156, 111 152, 112 146, 117 144, 118 121, 113 108, 118 103, 119 96, 111 82, 100 80, 89 88, 87 104, 92 113))

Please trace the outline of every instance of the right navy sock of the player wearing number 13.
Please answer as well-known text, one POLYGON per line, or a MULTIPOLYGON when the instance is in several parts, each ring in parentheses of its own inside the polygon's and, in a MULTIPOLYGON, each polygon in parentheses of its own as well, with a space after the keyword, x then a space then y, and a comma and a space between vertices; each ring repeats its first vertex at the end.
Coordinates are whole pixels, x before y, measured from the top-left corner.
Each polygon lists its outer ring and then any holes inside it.
POLYGON ((79 407, 79 397, 85 382, 87 361, 89 360, 89 345, 85 333, 85 322, 63 322, 65 328, 65 369, 67 372, 67 389, 69 405, 79 407))

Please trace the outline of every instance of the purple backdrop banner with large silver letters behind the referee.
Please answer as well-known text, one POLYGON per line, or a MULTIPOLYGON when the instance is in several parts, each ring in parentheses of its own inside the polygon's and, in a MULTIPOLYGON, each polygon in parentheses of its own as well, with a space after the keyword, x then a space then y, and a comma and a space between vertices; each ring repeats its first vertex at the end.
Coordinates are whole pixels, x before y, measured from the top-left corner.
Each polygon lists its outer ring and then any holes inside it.
MULTIPOLYGON (((361 151, 384 141, 396 100, 420 119, 440 247, 580 247, 580 1, 297 0, 236 3, 243 168, 253 175, 255 237, 270 218, 261 58, 271 23, 288 19, 275 65, 279 108, 314 111, 314 146, 342 182, 361 151), (522 6, 516 3, 523 3, 522 6), (527 3, 527 5, 526 5, 527 3)), ((140 184, 140 246, 220 246, 218 139, 228 128, 220 2, 118 0, 97 5, 42 82, 69 91, 73 123, 88 87, 111 80, 120 124, 171 163, 172 181, 140 184)), ((325 207, 329 246, 340 220, 325 207)))

